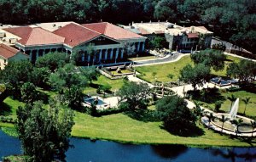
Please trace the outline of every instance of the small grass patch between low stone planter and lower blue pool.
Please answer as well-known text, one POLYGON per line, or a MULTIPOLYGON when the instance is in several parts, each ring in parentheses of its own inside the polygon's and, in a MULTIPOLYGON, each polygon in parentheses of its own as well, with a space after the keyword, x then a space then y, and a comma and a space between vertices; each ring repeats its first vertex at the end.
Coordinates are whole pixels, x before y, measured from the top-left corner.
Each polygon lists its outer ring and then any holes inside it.
POLYGON ((110 85, 111 91, 117 91, 119 90, 120 87, 123 86, 124 81, 122 79, 118 79, 118 80, 111 80, 109 78, 107 78, 104 75, 100 75, 98 77, 97 81, 93 81, 94 87, 85 87, 84 88, 84 94, 90 93, 90 92, 96 92, 96 88, 100 85, 110 85))

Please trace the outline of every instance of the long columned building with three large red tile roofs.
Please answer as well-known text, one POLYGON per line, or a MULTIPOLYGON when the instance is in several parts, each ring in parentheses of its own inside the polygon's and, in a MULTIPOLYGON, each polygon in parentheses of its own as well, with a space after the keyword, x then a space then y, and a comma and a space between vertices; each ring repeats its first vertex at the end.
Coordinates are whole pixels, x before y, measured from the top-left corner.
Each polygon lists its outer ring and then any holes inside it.
POLYGON ((145 36, 140 36, 108 22, 79 25, 74 22, 42 23, 0 29, 0 42, 16 47, 30 60, 49 52, 79 52, 81 62, 101 64, 125 56, 125 47, 143 52, 145 36), (94 54, 89 54, 92 47, 94 54))

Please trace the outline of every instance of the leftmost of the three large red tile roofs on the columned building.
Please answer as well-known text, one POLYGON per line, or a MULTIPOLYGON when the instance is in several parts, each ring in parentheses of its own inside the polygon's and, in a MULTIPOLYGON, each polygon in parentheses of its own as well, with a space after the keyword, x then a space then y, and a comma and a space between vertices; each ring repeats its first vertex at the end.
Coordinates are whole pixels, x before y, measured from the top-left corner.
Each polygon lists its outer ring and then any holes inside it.
POLYGON ((18 41, 22 45, 34 46, 34 45, 44 45, 44 44, 61 44, 64 42, 64 37, 57 36, 49 31, 42 28, 36 27, 32 28, 26 27, 15 27, 3 29, 21 39, 18 41))

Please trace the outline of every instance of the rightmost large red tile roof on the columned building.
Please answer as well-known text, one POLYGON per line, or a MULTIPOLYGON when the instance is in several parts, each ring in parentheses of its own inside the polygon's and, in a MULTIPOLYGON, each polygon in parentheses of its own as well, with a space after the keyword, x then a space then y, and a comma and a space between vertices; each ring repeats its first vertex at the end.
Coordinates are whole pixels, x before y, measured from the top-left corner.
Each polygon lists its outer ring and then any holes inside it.
POLYGON ((108 22, 84 24, 83 26, 117 40, 143 38, 143 36, 140 36, 131 31, 127 31, 117 25, 113 25, 108 22))

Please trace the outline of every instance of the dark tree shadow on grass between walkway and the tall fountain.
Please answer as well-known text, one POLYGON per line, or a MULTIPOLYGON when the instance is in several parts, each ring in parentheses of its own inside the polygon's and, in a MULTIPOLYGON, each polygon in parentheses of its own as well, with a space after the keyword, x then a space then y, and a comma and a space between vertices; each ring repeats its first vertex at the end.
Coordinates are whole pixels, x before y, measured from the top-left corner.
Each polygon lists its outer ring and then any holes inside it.
POLYGON ((218 92, 217 88, 207 88, 201 91, 189 91, 187 92, 193 100, 205 102, 205 103, 216 103, 217 101, 225 101, 225 97, 218 92))

